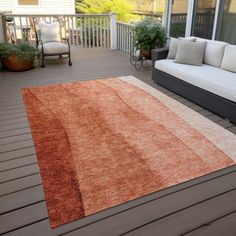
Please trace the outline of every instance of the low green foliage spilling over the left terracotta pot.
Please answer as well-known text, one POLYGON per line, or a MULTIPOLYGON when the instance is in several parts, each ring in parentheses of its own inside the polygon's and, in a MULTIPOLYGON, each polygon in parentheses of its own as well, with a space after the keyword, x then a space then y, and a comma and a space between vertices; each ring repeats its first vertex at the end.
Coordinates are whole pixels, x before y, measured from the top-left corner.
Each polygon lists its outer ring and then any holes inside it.
POLYGON ((34 59, 36 56, 36 48, 27 43, 10 44, 0 43, 0 56, 4 59, 9 58, 12 55, 16 55, 20 59, 34 59))

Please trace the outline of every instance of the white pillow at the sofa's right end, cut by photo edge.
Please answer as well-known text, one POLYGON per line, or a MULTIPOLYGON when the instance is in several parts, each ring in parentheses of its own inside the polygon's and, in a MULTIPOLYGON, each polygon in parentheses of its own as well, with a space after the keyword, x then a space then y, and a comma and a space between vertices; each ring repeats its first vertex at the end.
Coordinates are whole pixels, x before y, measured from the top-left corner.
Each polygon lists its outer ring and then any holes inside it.
POLYGON ((221 68, 236 73, 236 45, 227 45, 221 68))

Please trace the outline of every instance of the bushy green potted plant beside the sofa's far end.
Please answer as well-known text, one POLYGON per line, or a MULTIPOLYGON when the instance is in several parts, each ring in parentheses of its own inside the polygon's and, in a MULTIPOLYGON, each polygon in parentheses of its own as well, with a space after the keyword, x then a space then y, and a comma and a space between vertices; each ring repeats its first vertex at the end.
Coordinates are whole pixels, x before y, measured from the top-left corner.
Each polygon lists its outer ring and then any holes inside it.
POLYGON ((134 46, 140 50, 140 55, 151 58, 151 50, 164 47, 166 44, 166 32, 160 22, 145 18, 134 25, 134 46))

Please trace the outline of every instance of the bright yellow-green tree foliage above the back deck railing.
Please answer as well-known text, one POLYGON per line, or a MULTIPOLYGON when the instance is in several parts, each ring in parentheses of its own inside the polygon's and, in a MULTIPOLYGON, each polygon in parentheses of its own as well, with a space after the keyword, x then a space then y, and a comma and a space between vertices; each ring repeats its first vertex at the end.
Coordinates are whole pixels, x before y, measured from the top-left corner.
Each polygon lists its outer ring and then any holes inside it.
POLYGON ((107 14, 115 12, 119 21, 128 22, 132 19, 134 6, 127 0, 80 0, 76 2, 79 13, 107 14))

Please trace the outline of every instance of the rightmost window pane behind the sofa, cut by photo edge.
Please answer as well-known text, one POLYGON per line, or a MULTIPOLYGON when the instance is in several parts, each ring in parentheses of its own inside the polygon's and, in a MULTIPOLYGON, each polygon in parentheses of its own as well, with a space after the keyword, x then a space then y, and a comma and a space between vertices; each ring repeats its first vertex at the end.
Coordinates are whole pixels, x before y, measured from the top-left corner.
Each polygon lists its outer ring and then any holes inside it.
POLYGON ((222 10, 222 18, 219 18, 219 39, 236 44, 236 0, 225 0, 222 10))

